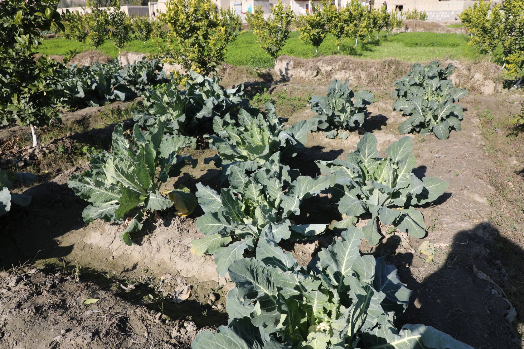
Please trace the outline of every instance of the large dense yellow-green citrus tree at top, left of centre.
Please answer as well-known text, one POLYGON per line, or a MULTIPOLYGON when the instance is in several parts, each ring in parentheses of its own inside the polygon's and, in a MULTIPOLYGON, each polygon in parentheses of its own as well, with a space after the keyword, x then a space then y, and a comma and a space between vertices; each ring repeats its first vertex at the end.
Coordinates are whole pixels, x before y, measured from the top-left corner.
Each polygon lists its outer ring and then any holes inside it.
POLYGON ((172 0, 157 17, 168 25, 165 43, 157 41, 168 61, 208 75, 224 60, 225 27, 212 0, 172 0))

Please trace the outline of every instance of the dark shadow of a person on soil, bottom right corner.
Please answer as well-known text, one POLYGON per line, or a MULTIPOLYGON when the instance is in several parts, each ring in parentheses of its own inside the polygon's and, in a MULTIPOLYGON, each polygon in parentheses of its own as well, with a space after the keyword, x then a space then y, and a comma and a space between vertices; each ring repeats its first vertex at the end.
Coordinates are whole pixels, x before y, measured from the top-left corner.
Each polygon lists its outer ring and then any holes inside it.
MULTIPOLYGON (((395 251, 401 242, 394 238, 377 247, 377 253, 387 256, 388 251, 395 251)), ((457 233, 444 261, 437 256, 433 262, 414 261, 418 257, 412 253, 388 259, 413 290, 399 324, 431 325, 478 349, 521 348, 515 328, 524 320, 524 251, 501 237, 491 224, 457 233), (421 282, 417 269, 436 262, 442 267, 421 282)))

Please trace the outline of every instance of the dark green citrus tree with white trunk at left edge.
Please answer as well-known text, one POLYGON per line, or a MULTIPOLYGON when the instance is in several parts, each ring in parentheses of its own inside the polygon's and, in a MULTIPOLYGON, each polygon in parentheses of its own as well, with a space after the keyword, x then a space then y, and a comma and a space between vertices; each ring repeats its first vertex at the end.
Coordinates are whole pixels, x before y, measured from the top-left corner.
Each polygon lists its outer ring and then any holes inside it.
POLYGON ((64 29, 53 0, 4 0, 0 4, 0 122, 36 127, 60 121, 53 84, 62 64, 34 52, 42 43, 40 31, 56 25, 64 29))

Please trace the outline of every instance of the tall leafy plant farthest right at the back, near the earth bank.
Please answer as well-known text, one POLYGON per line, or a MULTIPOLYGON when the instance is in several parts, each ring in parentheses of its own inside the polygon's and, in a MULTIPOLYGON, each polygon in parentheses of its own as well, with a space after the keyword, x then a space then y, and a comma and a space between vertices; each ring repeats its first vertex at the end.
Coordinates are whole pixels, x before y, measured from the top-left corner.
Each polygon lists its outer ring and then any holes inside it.
POLYGON ((447 79, 454 69, 451 64, 441 68, 438 61, 424 66, 417 63, 407 75, 393 83, 396 87, 393 97, 398 98, 393 109, 409 116, 400 124, 400 133, 434 133, 439 139, 447 139, 450 130, 461 130, 464 111, 454 102, 467 96, 467 91, 453 88, 453 82, 447 79))

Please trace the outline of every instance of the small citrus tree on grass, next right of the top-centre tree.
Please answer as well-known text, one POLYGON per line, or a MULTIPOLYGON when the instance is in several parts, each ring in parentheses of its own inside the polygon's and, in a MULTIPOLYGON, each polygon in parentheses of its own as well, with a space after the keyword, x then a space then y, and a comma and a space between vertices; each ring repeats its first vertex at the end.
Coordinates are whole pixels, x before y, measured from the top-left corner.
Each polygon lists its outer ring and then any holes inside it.
POLYGON ((328 24, 332 7, 326 0, 322 0, 322 7, 312 5, 312 14, 302 15, 297 19, 297 28, 300 31, 300 39, 305 43, 311 43, 315 47, 315 56, 319 50, 320 44, 328 35, 328 24))

